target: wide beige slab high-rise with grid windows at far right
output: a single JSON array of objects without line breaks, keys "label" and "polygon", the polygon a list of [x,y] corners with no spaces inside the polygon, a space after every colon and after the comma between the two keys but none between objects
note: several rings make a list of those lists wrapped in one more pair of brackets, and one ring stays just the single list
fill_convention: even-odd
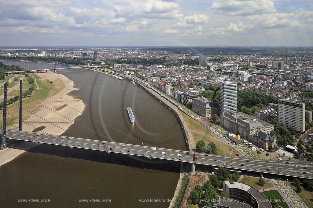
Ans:
[{"label": "wide beige slab high-rise with grid windows at far right", "polygon": [[295,131],[305,131],[305,103],[279,100],[278,101],[278,123],[285,127],[294,128]]}]

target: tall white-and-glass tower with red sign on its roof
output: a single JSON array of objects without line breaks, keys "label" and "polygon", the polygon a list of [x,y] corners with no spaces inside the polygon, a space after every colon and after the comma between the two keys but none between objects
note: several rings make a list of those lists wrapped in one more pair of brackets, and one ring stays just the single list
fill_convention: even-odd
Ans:
[{"label": "tall white-and-glass tower with red sign on its roof", "polygon": [[237,82],[224,80],[220,83],[219,105],[220,114],[237,112]]}]

